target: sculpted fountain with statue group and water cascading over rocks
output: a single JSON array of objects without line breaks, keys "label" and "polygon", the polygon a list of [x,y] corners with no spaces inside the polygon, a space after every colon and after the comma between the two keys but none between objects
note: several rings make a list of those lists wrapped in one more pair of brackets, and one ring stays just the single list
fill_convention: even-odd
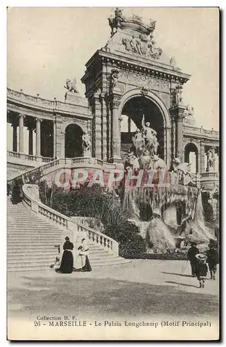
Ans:
[{"label": "sculpted fountain with statue group and water cascading over rocks", "polygon": [[[173,171],[167,171],[166,163],[157,155],[159,142],[156,135],[156,131],[150,128],[149,123],[145,123],[143,117],[142,128],[136,130],[132,138],[133,146],[125,161],[129,178],[131,171],[134,173],[142,169],[145,172],[142,184],[137,186],[132,182],[124,191],[123,205],[130,211],[130,220],[139,226],[141,236],[147,243],[158,248],[175,247],[175,239],[179,236],[177,232],[180,237],[189,236],[189,239],[201,242],[209,240],[213,235],[205,226],[202,196],[189,172],[189,163],[181,163],[180,158],[175,158],[172,162]],[[164,181],[160,180],[161,170],[165,173],[162,176]],[[149,171],[153,172],[153,184],[147,185],[147,182],[150,183]],[[134,179],[134,174],[132,177]],[[173,212],[172,215],[166,212],[168,208]],[[168,226],[164,219],[168,221]]]}]

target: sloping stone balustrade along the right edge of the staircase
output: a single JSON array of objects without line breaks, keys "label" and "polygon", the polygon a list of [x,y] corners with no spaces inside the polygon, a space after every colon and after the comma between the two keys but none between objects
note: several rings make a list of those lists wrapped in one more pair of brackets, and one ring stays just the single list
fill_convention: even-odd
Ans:
[{"label": "sloping stone balustrade along the right edge of the staircase", "polygon": [[98,230],[84,226],[83,224],[74,221],[64,214],[61,214],[60,212],[49,208],[49,206],[44,205],[44,203],[40,201],[40,198],[38,196],[37,185],[25,184],[23,185],[22,189],[24,192],[24,201],[29,206],[29,208],[31,208],[31,210],[33,210],[37,214],[40,214],[40,216],[49,219],[49,221],[54,222],[59,227],[64,227],[72,232],[86,232],[89,240],[98,244],[98,246],[101,246],[104,249],[110,251],[111,253],[119,255],[119,244],[114,239],[104,235]]}]

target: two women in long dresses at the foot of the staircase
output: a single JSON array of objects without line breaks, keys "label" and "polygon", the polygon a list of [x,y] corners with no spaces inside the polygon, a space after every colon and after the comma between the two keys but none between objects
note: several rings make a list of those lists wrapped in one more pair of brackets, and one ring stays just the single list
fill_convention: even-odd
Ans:
[{"label": "two women in long dresses at the foot of the staircase", "polygon": [[[62,260],[60,267],[55,269],[58,273],[72,273],[73,271],[92,271],[92,267],[89,262],[88,251],[89,246],[85,240],[82,239],[80,246],[78,247],[78,256],[74,262],[73,260],[73,243],[70,241],[69,237],[65,237],[65,242],[63,245],[64,253],[62,255]],[[53,267],[53,266],[51,266]]]}]

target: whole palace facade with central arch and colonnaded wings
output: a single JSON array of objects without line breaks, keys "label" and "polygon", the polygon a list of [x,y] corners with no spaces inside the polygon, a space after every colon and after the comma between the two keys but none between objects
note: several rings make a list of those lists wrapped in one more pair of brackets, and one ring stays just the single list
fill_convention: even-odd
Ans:
[{"label": "whole palace facade with central arch and colonnaded wings", "polygon": [[191,76],[157,46],[154,21],[146,24],[116,9],[109,24],[110,40],[89,59],[81,78],[85,97],[78,94],[75,79],[67,80],[64,102],[7,90],[8,178],[55,159],[79,167],[91,162],[121,168],[132,144],[132,125],[141,128],[144,117],[157,133],[158,155],[168,167],[174,158],[189,162],[193,153],[196,182],[217,209],[219,133],[193,125],[194,110],[182,97]]}]

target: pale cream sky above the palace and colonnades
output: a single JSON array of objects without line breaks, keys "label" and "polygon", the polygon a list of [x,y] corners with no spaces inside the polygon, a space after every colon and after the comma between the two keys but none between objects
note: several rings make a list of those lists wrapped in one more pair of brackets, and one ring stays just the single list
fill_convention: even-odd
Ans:
[{"label": "pale cream sky above the palace and colonnades", "polygon": [[[66,78],[80,78],[85,63],[110,36],[107,17],[115,8],[10,8],[8,87],[46,99],[64,100]],[[125,8],[157,21],[157,46],[191,74],[184,103],[196,125],[218,130],[218,10],[216,8]]]}]

